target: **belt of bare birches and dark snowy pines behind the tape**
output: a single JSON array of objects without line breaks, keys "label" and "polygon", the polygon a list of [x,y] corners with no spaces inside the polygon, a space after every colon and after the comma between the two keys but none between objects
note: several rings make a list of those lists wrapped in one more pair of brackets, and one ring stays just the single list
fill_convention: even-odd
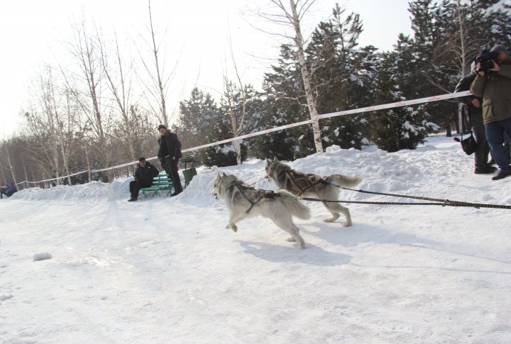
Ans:
[{"label": "belt of bare birches and dark snowy pines behind the tape", "polygon": [[[360,46],[360,16],[334,6],[332,16],[317,25],[302,47],[282,44],[278,62],[264,75],[260,89],[240,78],[224,78],[217,102],[194,89],[179,104],[170,127],[183,148],[233,138],[267,128],[306,121],[311,104],[331,113],[405,99],[449,93],[469,73],[480,47],[511,44],[511,5],[499,0],[410,1],[412,37],[400,35],[394,49],[380,52]],[[389,18],[388,20],[392,20]],[[383,21],[385,23],[385,21]],[[99,34],[77,26],[70,51],[80,74],[62,66],[41,74],[24,114],[25,130],[0,147],[0,178],[6,182],[40,180],[120,165],[158,150],[155,128],[169,123],[165,79],[155,59],[145,60],[154,84],[144,84],[144,96],[129,96],[129,64],[117,49],[106,50]],[[384,25],[384,24],[383,24]],[[151,27],[151,35],[154,38]],[[153,40],[154,42],[154,40]],[[312,102],[307,99],[303,68]],[[458,129],[458,104],[439,101],[372,113],[326,118],[319,122],[323,148],[377,145],[390,152],[414,149],[428,133]],[[235,165],[246,157],[295,160],[316,152],[309,126],[260,135],[243,142],[197,150],[204,165]],[[131,173],[131,167],[97,175],[79,174],[57,182],[111,180]]]}]

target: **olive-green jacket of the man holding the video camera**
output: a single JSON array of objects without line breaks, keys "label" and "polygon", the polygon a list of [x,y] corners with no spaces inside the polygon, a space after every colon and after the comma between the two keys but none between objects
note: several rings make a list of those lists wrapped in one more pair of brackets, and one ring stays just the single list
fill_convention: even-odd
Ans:
[{"label": "olive-green jacket of the man holding the video camera", "polygon": [[511,59],[500,65],[499,72],[485,73],[474,79],[471,92],[483,97],[483,118],[488,124],[511,117]]}]

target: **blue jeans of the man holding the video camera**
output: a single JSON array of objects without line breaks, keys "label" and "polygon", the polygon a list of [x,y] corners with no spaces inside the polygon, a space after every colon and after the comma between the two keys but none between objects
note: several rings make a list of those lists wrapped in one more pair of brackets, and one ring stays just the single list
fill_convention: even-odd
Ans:
[{"label": "blue jeans of the man holding the video camera", "polygon": [[490,122],[485,125],[486,140],[490,145],[493,159],[497,162],[500,170],[510,171],[510,156],[504,148],[505,134],[511,138],[511,117],[503,121]]}]

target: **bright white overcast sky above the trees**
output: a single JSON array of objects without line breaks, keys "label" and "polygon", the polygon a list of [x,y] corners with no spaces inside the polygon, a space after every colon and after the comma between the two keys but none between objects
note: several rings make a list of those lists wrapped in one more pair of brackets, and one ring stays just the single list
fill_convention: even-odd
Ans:
[{"label": "bright white overcast sky above the trees", "polygon": [[[399,33],[411,34],[408,0],[319,0],[307,17],[304,32],[325,20],[338,2],[346,13],[359,13],[364,33],[361,45],[392,50]],[[166,68],[177,62],[170,83],[169,106],[189,96],[197,85],[215,96],[221,91],[229,33],[243,82],[260,87],[263,73],[278,57],[282,41],[267,35],[251,10],[268,0],[152,0],[153,22],[164,40]],[[147,50],[148,2],[145,0],[5,0],[0,14],[0,137],[19,128],[19,113],[28,104],[29,89],[43,64],[57,65],[65,56],[63,43],[72,38],[71,23],[93,18],[105,35],[116,30],[121,45]],[[251,23],[252,25],[249,25]],[[307,26],[309,24],[309,26]],[[166,30],[166,34],[164,31]],[[163,45],[162,45],[163,46]],[[128,48],[126,48],[128,51]],[[369,104],[368,104],[369,105]]]}]

